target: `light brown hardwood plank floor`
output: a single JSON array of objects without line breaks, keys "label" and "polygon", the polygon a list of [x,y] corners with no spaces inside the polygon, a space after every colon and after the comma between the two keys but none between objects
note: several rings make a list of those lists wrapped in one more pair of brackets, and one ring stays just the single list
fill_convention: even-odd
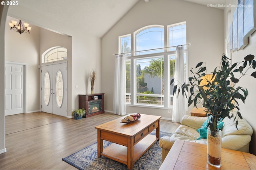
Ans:
[{"label": "light brown hardwood plank floor", "polygon": [[[96,125],[121,117],[103,113],[79,120],[44,112],[6,116],[6,153],[0,169],[76,169],[62,158],[97,142]],[[179,126],[160,120],[160,131]]]}]

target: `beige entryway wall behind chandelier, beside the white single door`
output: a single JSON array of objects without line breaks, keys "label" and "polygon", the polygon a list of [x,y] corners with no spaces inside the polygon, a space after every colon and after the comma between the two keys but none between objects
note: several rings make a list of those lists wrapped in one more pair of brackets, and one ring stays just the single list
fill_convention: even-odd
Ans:
[{"label": "beige entryway wall behind chandelier, beside the white single door", "polygon": [[[7,21],[16,20],[7,17]],[[19,34],[11,31],[8,24],[5,25],[6,51],[5,61],[27,64],[27,112],[39,111],[40,101],[40,64],[39,57],[39,37],[40,28],[32,26],[32,32]]]}]

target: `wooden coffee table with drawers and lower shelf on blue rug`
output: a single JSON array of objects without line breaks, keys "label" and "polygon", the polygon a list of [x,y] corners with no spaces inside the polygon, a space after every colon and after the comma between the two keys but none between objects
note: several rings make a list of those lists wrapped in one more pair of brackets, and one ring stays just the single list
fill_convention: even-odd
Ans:
[{"label": "wooden coffee table with drawers and lower shelf on blue rug", "polygon": [[[141,114],[133,123],[120,123],[126,116],[95,127],[98,129],[98,157],[106,156],[132,169],[140,156],[159,140],[161,117]],[[149,134],[154,129],[156,136]],[[112,144],[103,149],[103,140]]]}]

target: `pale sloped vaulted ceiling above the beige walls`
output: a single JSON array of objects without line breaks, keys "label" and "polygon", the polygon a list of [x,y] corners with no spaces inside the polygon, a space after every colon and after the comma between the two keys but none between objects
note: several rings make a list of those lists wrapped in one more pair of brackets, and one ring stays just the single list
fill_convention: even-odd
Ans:
[{"label": "pale sloped vaulted ceiling above the beige walls", "polygon": [[[18,0],[19,6],[25,6],[40,15],[60,22],[75,25],[77,29],[102,37],[118,22],[139,0]],[[188,2],[223,4],[226,0],[186,0]],[[150,0],[144,0],[144,3]]]}]

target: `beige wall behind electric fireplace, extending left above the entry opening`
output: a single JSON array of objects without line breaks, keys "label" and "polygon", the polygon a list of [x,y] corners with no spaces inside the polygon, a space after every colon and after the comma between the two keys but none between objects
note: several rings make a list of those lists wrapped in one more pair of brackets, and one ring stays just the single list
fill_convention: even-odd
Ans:
[{"label": "beige wall behind electric fireplace, extending left above the entry opening", "polygon": [[8,15],[72,37],[72,61],[68,61],[68,79],[71,79],[68,82],[70,84],[68,92],[71,92],[70,95],[68,94],[70,96],[68,97],[68,116],[71,116],[71,109],[78,108],[78,94],[91,92],[88,75],[93,68],[97,72],[94,91],[101,92],[100,38],[94,37],[82,29],[77,29],[77,27],[69,25],[68,22],[62,23],[22,5],[11,6]]}]

